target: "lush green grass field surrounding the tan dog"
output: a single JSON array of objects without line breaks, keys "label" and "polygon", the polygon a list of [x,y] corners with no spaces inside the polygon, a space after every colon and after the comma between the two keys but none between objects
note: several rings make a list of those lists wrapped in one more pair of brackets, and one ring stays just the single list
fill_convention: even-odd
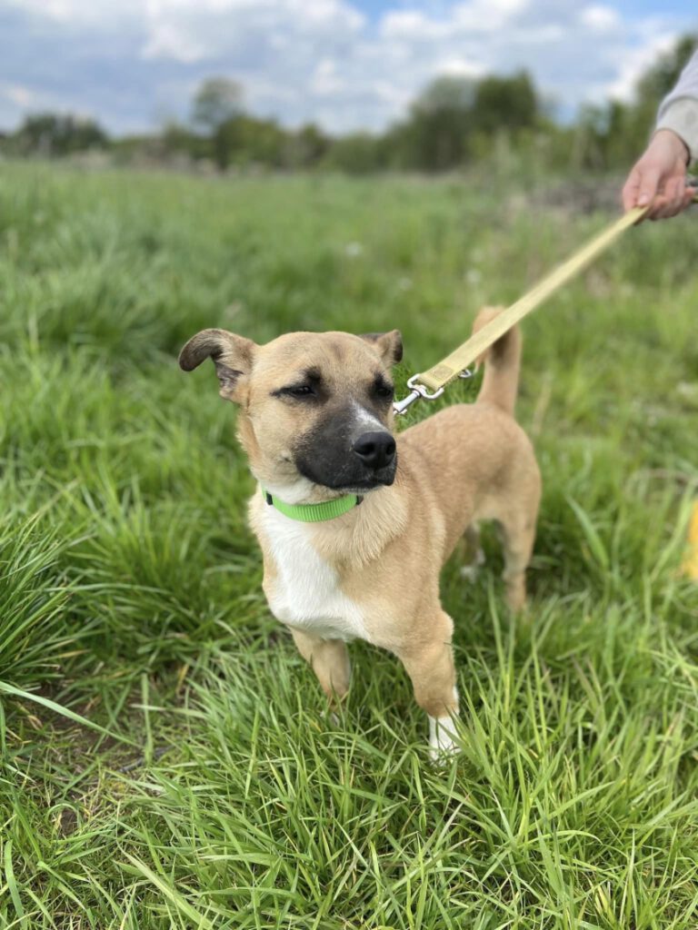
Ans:
[{"label": "lush green grass field surrounding the tan dog", "polygon": [[507,183],[0,166],[0,926],[696,926],[695,219],[524,326],[529,618],[494,533],[477,581],[447,566],[440,770],[387,654],[352,647],[327,716],[263,601],[234,406],[176,364],[205,326],[398,326],[404,385],[609,220]]}]

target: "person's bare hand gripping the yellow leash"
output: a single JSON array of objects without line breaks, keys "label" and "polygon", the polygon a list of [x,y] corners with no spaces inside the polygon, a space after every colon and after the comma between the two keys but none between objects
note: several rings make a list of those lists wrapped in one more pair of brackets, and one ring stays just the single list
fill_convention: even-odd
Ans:
[{"label": "person's bare hand gripping the yellow leash", "polygon": [[686,187],[689,150],[671,129],[659,129],[631,170],[623,188],[625,210],[651,204],[643,219],[675,217],[691,204],[695,188]]}]

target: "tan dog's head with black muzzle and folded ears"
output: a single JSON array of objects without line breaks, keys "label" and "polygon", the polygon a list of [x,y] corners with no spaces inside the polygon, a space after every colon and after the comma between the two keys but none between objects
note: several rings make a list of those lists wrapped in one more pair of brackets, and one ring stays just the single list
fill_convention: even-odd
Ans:
[{"label": "tan dog's head with black muzzle and folded ears", "polygon": [[301,499],[308,483],[325,497],[333,495],[324,489],[364,493],[392,485],[390,367],[401,357],[396,329],[289,333],[262,346],[205,329],[181,350],[180,365],[192,371],[212,359],[221,397],[240,406],[238,434],[252,473],[273,492]]}]

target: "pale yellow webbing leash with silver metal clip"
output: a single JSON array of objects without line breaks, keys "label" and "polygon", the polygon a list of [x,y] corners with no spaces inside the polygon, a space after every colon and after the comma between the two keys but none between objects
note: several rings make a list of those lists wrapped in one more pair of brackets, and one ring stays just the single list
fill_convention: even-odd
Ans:
[{"label": "pale yellow webbing leash with silver metal clip", "polygon": [[636,206],[628,210],[621,219],[616,219],[603,232],[598,233],[585,246],[578,249],[570,259],[547,274],[516,303],[498,313],[493,320],[490,320],[490,323],[463,342],[463,345],[459,346],[455,352],[451,352],[427,371],[412,375],[407,382],[409,394],[393,405],[396,414],[405,413],[408,407],[420,398],[425,401],[436,400],[450,382],[457,378],[472,378],[475,370],[471,370],[469,366],[473,365],[483,352],[489,349],[497,339],[500,339],[507,330],[539,307],[544,300],[555,294],[560,287],[566,285],[575,274],[579,274],[591,264],[626,229],[642,219],[649,209],[650,206]]}]

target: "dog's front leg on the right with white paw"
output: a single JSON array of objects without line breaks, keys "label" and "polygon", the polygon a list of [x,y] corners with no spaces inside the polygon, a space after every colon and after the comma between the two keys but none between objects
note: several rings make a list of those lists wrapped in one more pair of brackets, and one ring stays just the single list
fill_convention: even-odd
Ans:
[{"label": "dog's front leg on the right with white paw", "polygon": [[453,622],[439,611],[432,622],[424,623],[430,632],[420,640],[396,650],[414,688],[414,697],[429,717],[429,748],[432,758],[457,750],[454,717],[458,715],[458,690],[450,639]]}]

